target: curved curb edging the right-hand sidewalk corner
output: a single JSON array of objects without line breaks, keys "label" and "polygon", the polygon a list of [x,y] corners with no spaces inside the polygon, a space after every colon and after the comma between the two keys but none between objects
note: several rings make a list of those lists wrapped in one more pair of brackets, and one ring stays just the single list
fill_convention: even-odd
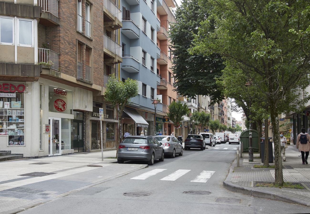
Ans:
[{"label": "curved curb edging the right-hand sidewalk corner", "polygon": [[230,180],[233,176],[232,171],[234,170],[234,165],[237,165],[237,157],[236,157],[235,161],[232,163],[232,166],[229,169],[228,176],[226,177],[225,181],[223,182],[223,186],[225,189],[228,189],[232,192],[238,192],[238,193],[242,193],[244,195],[250,195],[250,196],[254,196],[254,197],[258,197],[258,198],[284,201],[287,203],[300,204],[300,205],[310,207],[310,202],[305,201],[303,199],[299,199],[299,198],[296,198],[293,196],[288,196],[285,194],[276,193],[273,191],[255,189],[255,188],[251,188],[251,187],[247,187],[247,186],[241,186],[241,185],[232,183]]}]

